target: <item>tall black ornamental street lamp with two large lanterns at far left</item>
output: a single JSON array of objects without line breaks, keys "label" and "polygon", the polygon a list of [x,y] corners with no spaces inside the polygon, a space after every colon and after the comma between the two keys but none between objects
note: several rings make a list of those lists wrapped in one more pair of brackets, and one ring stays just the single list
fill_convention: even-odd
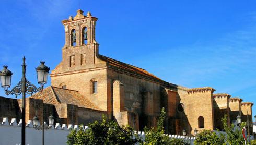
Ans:
[{"label": "tall black ornamental street lamp with two large lanterns at far left", "polygon": [[44,65],[44,62],[41,62],[41,64],[36,68],[37,70],[37,78],[38,78],[38,83],[40,84],[40,87],[37,88],[34,86],[34,84],[31,84],[29,81],[26,79],[26,63],[25,63],[25,57],[23,57],[23,64],[22,64],[22,78],[21,81],[18,83],[17,86],[15,86],[13,89],[10,91],[8,88],[10,88],[10,82],[11,82],[11,73],[10,70],[7,69],[8,66],[4,66],[4,69],[0,71],[0,81],[1,81],[1,86],[5,90],[5,94],[14,94],[17,98],[18,95],[22,93],[22,124],[21,124],[21,145],[25,145],[25,104],[26,104],[26,94],[33,94],[38,91],[43,90],[44,84],[47,83],[47,77],[49,74],[50,68]]}]

